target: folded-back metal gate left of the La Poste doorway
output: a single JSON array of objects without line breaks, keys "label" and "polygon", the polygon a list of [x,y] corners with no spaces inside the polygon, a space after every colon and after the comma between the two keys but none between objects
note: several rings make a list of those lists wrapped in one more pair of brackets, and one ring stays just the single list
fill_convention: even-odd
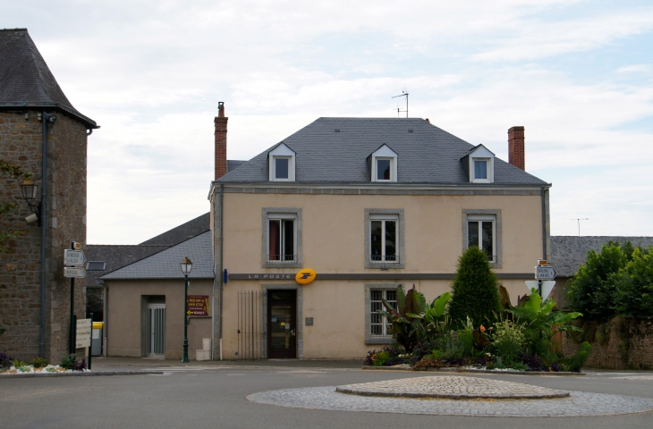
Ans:
[{"label": "folded-back metal gate left of the La Poste doorway", "polygon": [[260,290],[238,292],[238,358],[260,360],[261,353]]}]

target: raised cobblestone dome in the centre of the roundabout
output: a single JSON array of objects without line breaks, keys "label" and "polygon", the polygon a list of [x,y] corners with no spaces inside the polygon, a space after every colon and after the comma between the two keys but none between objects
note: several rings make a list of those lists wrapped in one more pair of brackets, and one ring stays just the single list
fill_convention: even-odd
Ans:
[{"label": "raised cobblestone dome in the centre of the roundabout", "polygon": [[555,391],[524,383],[462,376],[417,377],[376,383],[347,384],[336,387],[335,391],[362,396],[448,398],[453,400],[541,400],[569,396],[568,391]]}]

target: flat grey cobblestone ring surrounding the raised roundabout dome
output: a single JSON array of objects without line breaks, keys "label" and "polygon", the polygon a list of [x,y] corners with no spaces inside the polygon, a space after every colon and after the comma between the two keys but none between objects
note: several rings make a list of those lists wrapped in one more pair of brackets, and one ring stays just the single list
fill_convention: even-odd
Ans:
[{"label": "flat grey cobblestone ring surrounding the raised roundabout dome", "polygon": [[442,416],[615,416],[653,411],[653,400],[584,391],[570,391],[566,398],[548,400],[453,400],[358,396],[335,389],[326,386],[262,391],[247,399],[290,408]]}]

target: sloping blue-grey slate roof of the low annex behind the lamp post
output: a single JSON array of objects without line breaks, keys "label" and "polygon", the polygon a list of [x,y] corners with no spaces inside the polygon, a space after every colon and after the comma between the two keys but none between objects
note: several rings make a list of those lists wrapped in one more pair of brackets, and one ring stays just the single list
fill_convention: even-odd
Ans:
[{"label": "sloping blue-grey slate roof of the low annex behind the lamp post", "polygon": [[184,257],[190,257],[193,263],[190,279],[213,279],[211,232],[204,232],[155,255],[123,266],[123,268],[101,276],[100,280],[182,279],[183,275],[179,264]]}]

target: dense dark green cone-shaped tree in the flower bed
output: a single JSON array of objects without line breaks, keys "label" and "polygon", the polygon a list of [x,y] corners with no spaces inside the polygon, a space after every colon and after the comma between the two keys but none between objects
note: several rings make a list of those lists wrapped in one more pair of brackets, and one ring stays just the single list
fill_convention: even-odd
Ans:
[{"label": "dense dark green cone-shaped tree in the flower bed", "polygon": [[488,255],[475,246],[468,248],[458,259],[452,293],[449,315],[456,324],[464,323],[467,316],[474,326],[488,324],[503,310]]}]

